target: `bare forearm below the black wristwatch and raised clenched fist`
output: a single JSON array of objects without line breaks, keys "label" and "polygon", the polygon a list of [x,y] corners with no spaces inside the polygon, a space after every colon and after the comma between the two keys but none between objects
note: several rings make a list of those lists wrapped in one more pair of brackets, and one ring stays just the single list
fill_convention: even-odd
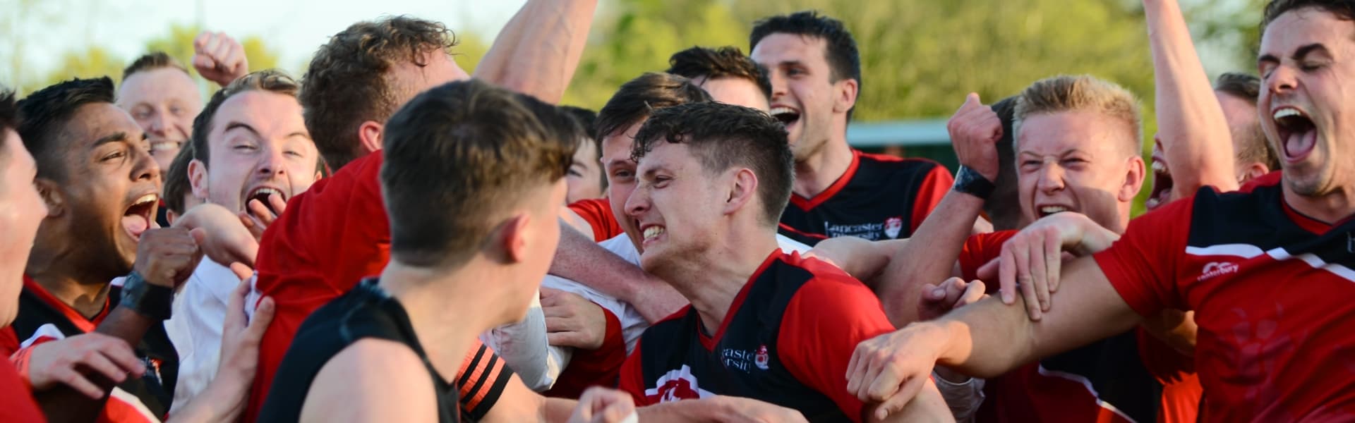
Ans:
[{"label": "bare forearm below the black wristwatch and raised clenched fist", "polygon": [[888,283],[878,294],[896,327],[917,320],[923,285],[940,283],[951,275],[982,206],[978,197],[947,193],[913,233],[912,239],[919,243],[908,243],[890,260],[883,274]]}]

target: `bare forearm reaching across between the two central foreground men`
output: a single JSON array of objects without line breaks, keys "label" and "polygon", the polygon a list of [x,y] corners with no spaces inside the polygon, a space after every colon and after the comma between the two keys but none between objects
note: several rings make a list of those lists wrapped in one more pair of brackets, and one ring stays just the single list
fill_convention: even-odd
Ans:
[{"label": "bare forearm reaching across between the two central foreground men", "polygon": [[560,247],[556,248],[556,258],[550,262],[551,275],[576,281],[626,301],[650,323],[663,320],[687,305],[687,298],[667,282],[599,247],[592,239],[568,225],[560,232]]}]

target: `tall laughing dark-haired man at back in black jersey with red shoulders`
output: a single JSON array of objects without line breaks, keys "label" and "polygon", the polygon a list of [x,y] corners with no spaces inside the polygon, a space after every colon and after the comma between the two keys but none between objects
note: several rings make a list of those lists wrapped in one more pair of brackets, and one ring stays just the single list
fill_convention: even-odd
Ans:
[{"label": "tall laughing dark-haired man at back in black jersey with red shoulders", "polygon": [[839,236],[905,239],[917,230],[954,178],[935,161],[847,145],[862,79],[846,26],[813,11],[771,16],[753,26],[749,45],[771,79],[771,115],[786,123],[795,152],[782,233],[813,245]]}]

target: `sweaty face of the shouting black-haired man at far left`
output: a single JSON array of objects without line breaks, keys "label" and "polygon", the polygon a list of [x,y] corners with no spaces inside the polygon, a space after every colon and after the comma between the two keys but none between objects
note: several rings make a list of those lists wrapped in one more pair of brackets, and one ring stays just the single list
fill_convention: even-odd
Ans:
[{"label": "sweaty face of the shouting black-haired man at far left", "polygon": [[[111,277],[131,271],[137,241],[153,226],[160,199],[160,167],[149,141],[126,111],[108,103],[81,106],[60,137],[65,180],[54,183],[54,191],[69,233],[43,237],[80,240],[83,264]],[[46,228],[45,221],[39,233]]]}]

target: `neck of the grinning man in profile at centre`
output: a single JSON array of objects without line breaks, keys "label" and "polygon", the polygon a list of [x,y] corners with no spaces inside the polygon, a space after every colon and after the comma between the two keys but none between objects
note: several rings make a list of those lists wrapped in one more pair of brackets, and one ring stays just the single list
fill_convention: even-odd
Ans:
[{"label": "neck of the grinning man in profile at centre", "polygon": [[675,263],[673,268],[659,275],[691,301],[706,334],[714,335],[720,329],[734,297],[767,260],[767,255],[780,248],[774,229],[755,228],[730,230],[721,237],[721,244],[707,248],[694,260]]}]

